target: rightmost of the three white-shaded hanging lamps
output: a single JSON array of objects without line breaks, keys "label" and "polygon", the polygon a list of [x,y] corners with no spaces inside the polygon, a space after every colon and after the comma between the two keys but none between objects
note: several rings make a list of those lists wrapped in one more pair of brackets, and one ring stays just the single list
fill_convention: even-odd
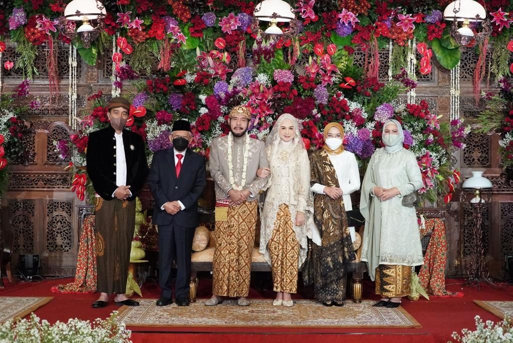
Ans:
[{"label": "rightmost of the three white-shaded hanging lamps", "polygon": [[[490,21],[486,18],[486,10],[481,4],[473,0],[456,0],[447,5],[444,18],[452,21],[450,35],[464,49],[473,40],[482,43],[491,34]],[[459,25],[461,23],[461,27]],[[470,25],[482,26],[480,32],[475,33]]]}]

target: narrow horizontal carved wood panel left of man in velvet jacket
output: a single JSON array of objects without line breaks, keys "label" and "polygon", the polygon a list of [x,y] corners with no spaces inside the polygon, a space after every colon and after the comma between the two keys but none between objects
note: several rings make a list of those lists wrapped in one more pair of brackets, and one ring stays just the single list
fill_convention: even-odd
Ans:
[{"label": "narrow horizontal carved wood panel left of man in velvet jacket", "polygon": [[66,172],[13,172],[9,179],[9,190],[67,189],[70,187],[71,174]]}]

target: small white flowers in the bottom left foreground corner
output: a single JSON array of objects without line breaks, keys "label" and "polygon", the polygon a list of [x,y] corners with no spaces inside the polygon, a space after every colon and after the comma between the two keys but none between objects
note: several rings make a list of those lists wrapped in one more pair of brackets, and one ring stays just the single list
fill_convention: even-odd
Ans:
[{"label": "small white flowers in the bottom left foreground corner", "polygon": [[116,317],[114,311],[105,320],[97,318],[90,322],[74,318],[51,325],[31,313],[30,319],[10,319],[0,325],[0,342],[130,342],[131,331]]}]

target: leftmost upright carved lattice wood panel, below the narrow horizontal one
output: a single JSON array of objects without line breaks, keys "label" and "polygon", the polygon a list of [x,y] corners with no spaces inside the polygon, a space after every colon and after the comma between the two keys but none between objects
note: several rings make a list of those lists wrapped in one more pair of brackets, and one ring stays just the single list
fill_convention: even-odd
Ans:
[{"label": "leftmost upright carved lattice wood panel, below the narrow horizontal one", "polygon": [[14,231],[13,251],[15,253],[32,253],[34,251],[35,201],[11,200],[9,206]]}]

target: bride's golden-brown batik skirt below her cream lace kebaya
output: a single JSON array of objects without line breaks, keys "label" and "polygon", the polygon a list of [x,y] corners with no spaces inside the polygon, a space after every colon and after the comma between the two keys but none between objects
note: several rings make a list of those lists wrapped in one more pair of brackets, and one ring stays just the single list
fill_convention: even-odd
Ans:
[{"label": "bride's golden-brown batik skirt below her cream lace kebaya", "polygon": [[286,204],[278,207],[272,237],[267,244],[271,256],[274,292],[298,291],[299,243],[292,227],[292,218]]}]

